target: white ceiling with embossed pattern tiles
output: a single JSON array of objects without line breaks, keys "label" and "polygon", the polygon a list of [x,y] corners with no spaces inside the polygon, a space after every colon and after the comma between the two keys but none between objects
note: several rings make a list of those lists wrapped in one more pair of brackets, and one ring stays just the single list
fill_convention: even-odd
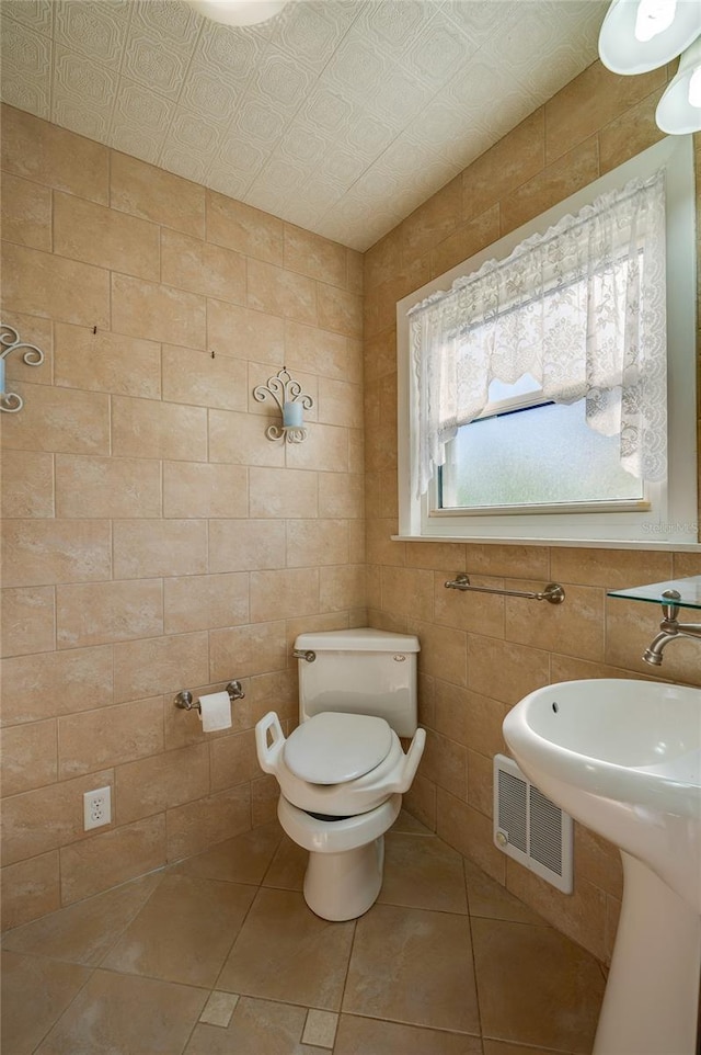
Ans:
[{"label": "white ceiling with embossed pattern tiles", "polygon": [[2,0],[2,98],[365,250],[587,67],[608,0]]}]

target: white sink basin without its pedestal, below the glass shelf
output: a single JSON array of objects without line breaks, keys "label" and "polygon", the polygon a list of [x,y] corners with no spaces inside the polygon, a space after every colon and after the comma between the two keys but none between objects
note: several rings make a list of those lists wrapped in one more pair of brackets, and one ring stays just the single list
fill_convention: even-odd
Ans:
[{"label": "white sink basin without its pedestal, below the glass shelf", "polygon": [[701,690],[565,681],[521,700],[504,737],[543,794],[701,912]]}]

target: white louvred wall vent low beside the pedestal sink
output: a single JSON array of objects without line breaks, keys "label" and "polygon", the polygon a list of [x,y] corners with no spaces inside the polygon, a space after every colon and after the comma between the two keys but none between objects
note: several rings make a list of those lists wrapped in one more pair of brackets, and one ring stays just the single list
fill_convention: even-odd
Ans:
[{"label": "white louvred wall vent low beside the pedestal sink", "polygon": [[506,755],[494,757],[494,844],[564,894],[573,886],[572,817]]}]

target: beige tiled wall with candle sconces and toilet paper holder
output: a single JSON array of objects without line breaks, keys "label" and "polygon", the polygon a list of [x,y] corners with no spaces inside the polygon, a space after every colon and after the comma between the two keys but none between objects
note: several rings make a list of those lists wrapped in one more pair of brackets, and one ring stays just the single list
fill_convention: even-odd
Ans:
[{"label": "beige tiled wall with candle sconces and toilet paper holder", "polygon": [[[360,254],[10,107],[1,139],[2,318],[46,353],[1,422],[7,928],[274,816],[253,725],[297,633],[366,613]],[[296,447],[252,396],[283,364]],[[174,708],[231,678],[231,731]]]}]

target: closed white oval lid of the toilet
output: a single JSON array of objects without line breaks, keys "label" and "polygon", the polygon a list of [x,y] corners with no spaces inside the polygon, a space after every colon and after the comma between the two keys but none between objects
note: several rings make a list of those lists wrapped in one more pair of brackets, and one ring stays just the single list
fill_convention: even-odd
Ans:
[{"label": "closed white oval lid of the toilet", "polygon": [[384,718],[323,711],[290,733],[284,758],[290,772],[309,784],[341,784],[369,773],[391,746]]}]

